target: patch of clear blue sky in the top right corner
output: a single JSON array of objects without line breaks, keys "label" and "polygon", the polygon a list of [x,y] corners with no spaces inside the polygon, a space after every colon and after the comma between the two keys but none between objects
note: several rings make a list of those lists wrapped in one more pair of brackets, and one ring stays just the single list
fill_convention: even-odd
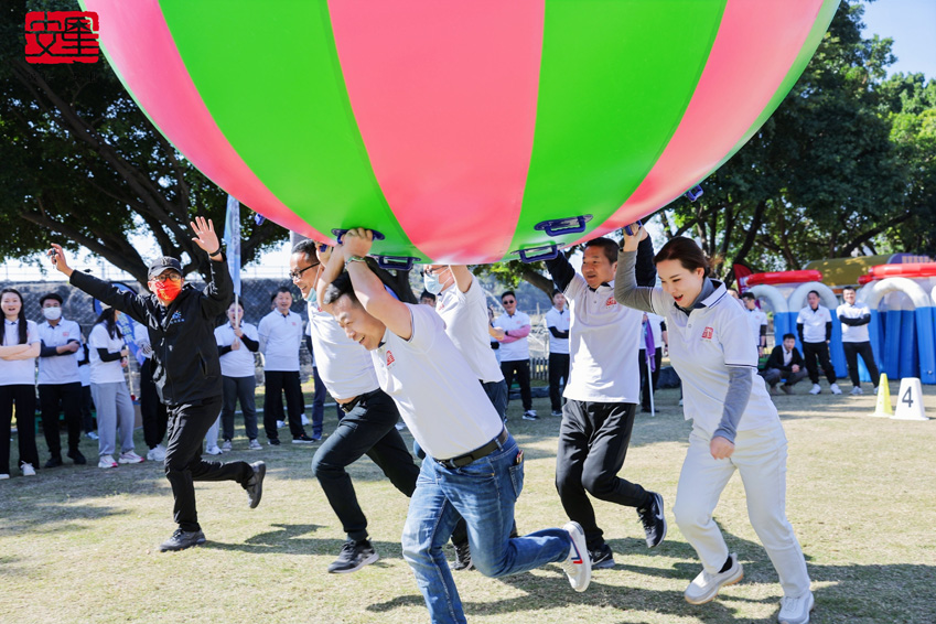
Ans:
[{"label": "patch of clear blue sky in the top right corner", "polygon": [[865,3],[864,36],[894,40],[897,62],[889,74],[923,72],[936,78],[936,0],[878,0]]}]

